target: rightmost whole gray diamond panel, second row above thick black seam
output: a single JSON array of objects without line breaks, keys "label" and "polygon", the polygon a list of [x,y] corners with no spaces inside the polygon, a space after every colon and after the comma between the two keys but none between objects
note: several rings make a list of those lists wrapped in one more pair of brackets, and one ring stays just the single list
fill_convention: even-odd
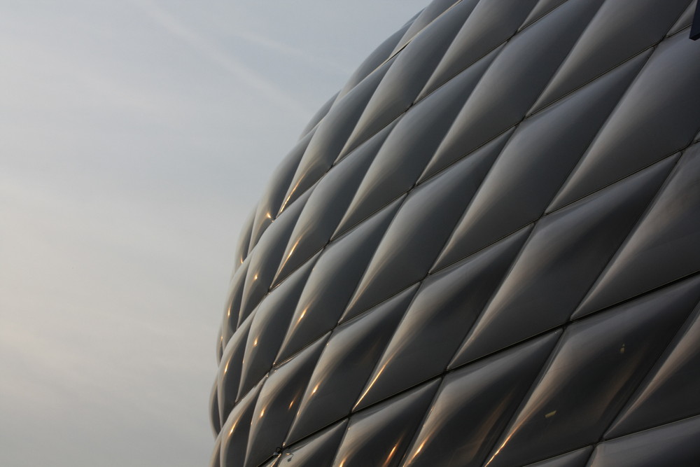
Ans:
[{"label": "rightmost whole gray diamond panel, second row above thick black seam", "polygon": [[[631,60],[525,120],[486,176],[437,264],[464,258],[540,218],[644,61],[645,57]],[[510,188],[503,190],[504,186]]]}]

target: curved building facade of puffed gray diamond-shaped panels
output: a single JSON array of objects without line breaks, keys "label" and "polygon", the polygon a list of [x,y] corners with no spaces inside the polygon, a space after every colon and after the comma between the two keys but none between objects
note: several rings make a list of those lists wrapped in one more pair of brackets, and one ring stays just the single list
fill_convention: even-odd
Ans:
[{"label": "curved building facade of puffed gray diamond-shaped panels", "polygon": [[689,0],[435,0],[239,239],[212,466],[700,459]]}]

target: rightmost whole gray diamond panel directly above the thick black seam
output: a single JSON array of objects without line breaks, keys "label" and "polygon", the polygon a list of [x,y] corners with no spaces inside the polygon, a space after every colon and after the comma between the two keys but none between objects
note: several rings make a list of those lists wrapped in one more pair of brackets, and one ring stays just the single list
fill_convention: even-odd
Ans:
[{"label": "rightmost whole gray diamond panel directly above the thick black seam", "polygon": [[565,323],[656,194],[672,162],[660,162],[542,218],[455,364]]}]

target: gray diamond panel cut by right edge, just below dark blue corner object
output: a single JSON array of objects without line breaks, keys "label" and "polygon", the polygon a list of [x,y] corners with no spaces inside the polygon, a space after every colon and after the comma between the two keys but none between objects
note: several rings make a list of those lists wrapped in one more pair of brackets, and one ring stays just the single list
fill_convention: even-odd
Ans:
[{"label": "gray diamond panel cut by right edge, just below dark blue corner object", "polygon": [[700,48],[664,41],[605,123],[549,211],[684,148],[700,127]]}]

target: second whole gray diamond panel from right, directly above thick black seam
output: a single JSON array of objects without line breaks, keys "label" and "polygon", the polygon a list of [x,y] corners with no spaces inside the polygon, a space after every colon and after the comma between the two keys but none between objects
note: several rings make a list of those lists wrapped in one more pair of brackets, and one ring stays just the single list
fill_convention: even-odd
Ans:
[{"label": "second whole gray diamond panel from right, directly above thick black seam", "polygon": [[528,234],[518,232],[423,281],[357,407],[444,372]]}]

